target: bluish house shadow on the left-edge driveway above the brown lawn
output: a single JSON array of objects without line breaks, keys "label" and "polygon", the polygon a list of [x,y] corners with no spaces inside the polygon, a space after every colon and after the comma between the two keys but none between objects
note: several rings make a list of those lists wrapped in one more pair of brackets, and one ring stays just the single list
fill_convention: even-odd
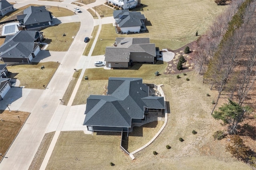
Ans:
[{"label": "bluish house shadow on the left-edge driveway above the brown lawn", "polygon": [[4,96],[4,99],[0,101],[0,114],[4,112],[4,110],[12,110],[12,104],[22,97],[22,89],[20,87],[12,87]]}]

